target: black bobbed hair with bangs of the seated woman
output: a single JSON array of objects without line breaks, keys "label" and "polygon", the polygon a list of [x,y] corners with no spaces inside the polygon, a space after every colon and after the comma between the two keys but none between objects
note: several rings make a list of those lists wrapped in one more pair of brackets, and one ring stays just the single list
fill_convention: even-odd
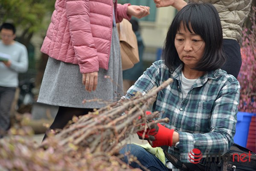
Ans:
[{"label": "black bobbed hair with bangs of the seated woman", "polygon": [[[174,70],[183,62],[175,48],[175,35],[181,26],[200,35],[205,42],[203,57],[194,70],[210,71],[220,68],[226,61],[222,51],[222,28],[217,10],[209,3],[188,3],[174,17],[167,32],[163,47],[163,60]],[[192,30],[191,30],[192,29]]]}]

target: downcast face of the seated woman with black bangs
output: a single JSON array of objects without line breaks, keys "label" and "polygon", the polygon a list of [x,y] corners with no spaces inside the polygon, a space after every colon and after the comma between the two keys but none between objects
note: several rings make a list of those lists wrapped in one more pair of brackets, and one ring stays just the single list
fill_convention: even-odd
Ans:
[{"label": "downcast face of the seated woman with black bangs", "polygon": [[200,35],[184,29],[183,24],[175,35],[175,48],[184,67],[194,68],[204,54],[205,42]]}]

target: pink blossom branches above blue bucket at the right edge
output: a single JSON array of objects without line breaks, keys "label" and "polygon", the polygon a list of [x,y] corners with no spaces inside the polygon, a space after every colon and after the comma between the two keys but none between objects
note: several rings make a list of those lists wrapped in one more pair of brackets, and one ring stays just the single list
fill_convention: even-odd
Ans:
[{"label": "pink blossom branches above blue bucket at the right edge", "polygon": [[239,111],[256,113],[256,8],[253,8],[252,26],[242,35],[242,66],[238,81],[241,86]]}]

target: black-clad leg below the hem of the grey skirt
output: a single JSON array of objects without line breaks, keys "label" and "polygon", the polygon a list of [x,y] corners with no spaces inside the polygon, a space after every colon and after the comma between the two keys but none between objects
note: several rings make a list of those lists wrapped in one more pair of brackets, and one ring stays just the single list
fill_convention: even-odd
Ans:
[{"label": "black-clad leg below the hem of the grey skirt", "polygon": [[[55,116],[55,119],[52,122],[52,125],[49,127],[49,130],[63,129],[67,125],[67,123],[73,118],[73,116],[81,116],[89,112],[93,112],[93,109],[60,106]],[[49,130],[47,130],[47,132]],[[47,138],[47,132],[44,135],[43,141]]]}]

